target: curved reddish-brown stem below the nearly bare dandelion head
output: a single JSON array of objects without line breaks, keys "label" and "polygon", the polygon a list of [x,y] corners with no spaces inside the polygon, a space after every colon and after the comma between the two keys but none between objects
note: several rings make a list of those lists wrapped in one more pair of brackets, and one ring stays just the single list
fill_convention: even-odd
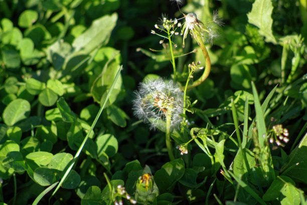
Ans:
[{"label": "curved reddish-brown stem below the nearly bare dandelion head", "polygon": [[203,81],[205,81],[205,79],[208,77],[209,73],[210,73],[210,69],[211,69],[211,60],[208,54],[208,51],[206,49],[206,45],[204,44],[202,38],[201,38],[201,34],[199,32],[195,32],[195,39],[198,42],[198,45],[201,47],[205,60],[206,60],[206,67],[204,69],[204,72],[202,74],[202,76],[200,78],[198,78],[197,80],[195,80],[193,82],[193,84],[188,85],[188,89],[192,89],[193,87],[196,87],[198,85],[200,85]]}]

